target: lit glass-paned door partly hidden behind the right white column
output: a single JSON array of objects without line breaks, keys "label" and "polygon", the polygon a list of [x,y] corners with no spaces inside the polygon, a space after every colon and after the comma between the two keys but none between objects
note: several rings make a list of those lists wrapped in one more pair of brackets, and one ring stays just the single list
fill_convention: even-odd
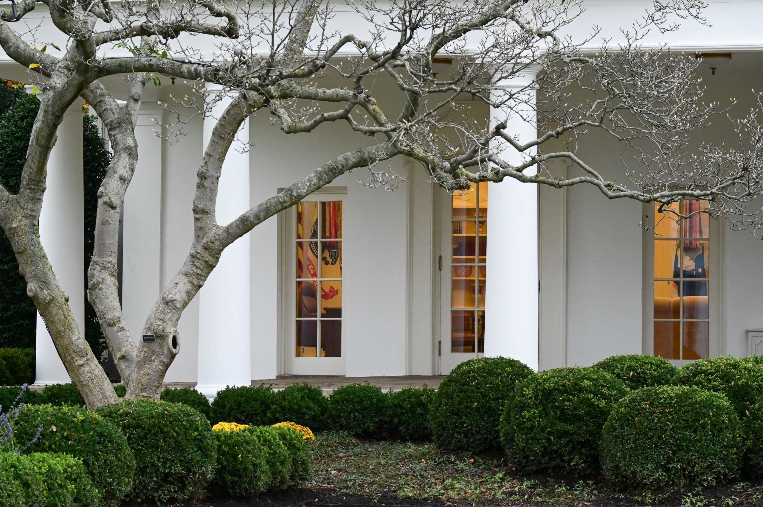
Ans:
[{"label": "lit glass-paned door partly hidden behind the right white column", "polygon": [[485,352],[488,184],[441,199],[439,374]]}]

